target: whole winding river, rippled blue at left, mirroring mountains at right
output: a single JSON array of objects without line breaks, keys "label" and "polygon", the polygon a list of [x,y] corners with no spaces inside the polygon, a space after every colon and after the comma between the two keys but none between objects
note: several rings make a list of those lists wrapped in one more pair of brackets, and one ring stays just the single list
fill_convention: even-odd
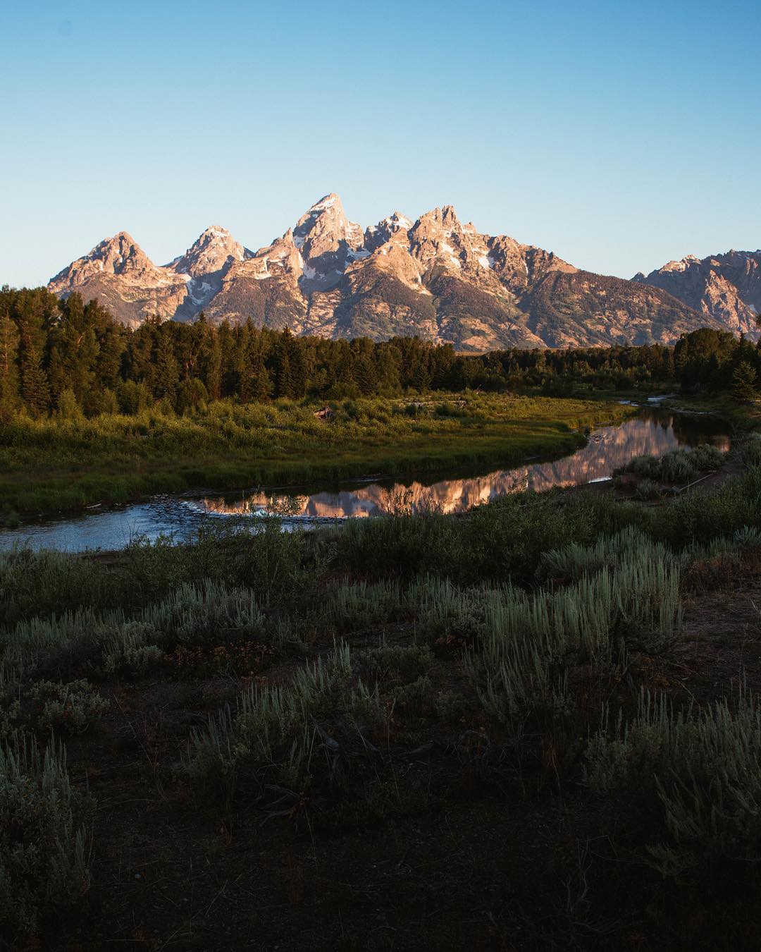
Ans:
[{"label": "whole winding river, rippled blue at left, mirroring mountains at right", "polygon": [[85,549],[116,549],[135,535],[156,539],[171,536],[189,539],[210,518],[248,516],[282,506],[291,508],[283,524],[296,528],[322,520],[372,516],[397,509],[420,511],[435,507],[443,512],[461,512],[487,503],[506,493],[532,487],[576,486],[610,477],[642,453],[662,455],[676,446],[712,443],[728,449],[730,439],[712,418],[691,418],[645,409],[619,426],[595,430],[586,446],[553,463],[529,463],[464,479],[439,479],[430,483],[376,483],[319,489],[293,497],[254,492],[238,496],[189,500],[178,496],[155,496],[146,503],[114,506],[103,511],[67,516],[16,529],[0,531],[0,549],[13,545],[57,548],[80,552]]}]

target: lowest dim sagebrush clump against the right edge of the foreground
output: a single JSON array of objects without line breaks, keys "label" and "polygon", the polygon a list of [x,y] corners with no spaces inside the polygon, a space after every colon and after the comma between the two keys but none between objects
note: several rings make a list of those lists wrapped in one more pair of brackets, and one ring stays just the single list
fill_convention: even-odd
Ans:
[{"label": "lowest dim sagebrush clump against the right edge of the foreground", "polygon": [[734,710],[721,700],[696,713],[643,694],[631,724],[619,718],[610,730],[604,716],[586,780],[601,792],[657,797],[660,840],[648,853],[664,875],[761,856],[761,711],[746,691]]}]

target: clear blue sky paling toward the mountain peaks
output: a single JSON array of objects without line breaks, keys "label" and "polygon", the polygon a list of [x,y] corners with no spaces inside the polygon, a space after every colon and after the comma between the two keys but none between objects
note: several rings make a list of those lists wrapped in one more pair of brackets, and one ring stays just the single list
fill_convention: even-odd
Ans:
[{"label": "clear blue sky paling toward the mountain peaks", "polygon": [[631,277],[761,246],[761,3],[0,0],[0,284],[323,194]]}]

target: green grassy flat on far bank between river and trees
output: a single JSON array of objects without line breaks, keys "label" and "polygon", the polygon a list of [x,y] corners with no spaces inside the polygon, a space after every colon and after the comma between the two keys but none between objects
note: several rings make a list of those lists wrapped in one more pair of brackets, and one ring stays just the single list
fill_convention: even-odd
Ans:
[{"label": "green grassy flat on far bank between river and trees", "polygon": [[331,405],[213,404],[194,416],[31,420],[0,426],[0,518],[213,486],[299,485],[517,464],[583,446],[586,428],[636,412],[612,400],[432,394]]}]

